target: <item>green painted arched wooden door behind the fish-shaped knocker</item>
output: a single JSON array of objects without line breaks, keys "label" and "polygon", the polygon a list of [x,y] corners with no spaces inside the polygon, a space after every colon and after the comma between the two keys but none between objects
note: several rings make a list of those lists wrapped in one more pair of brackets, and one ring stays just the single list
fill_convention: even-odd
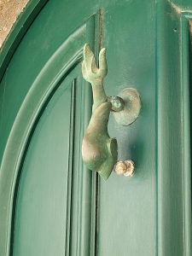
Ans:
[{"label": "green painted arched wooden door behind the fish-shaped knocker", "polygon": [[[44,2],[31,0],[1,52],[0,255],[190,256],[192,2]],[[141,96],[134,123],[108,121],[132,177],[84,166],[84,44],[97,61],[107,48],[107,96]]]}]

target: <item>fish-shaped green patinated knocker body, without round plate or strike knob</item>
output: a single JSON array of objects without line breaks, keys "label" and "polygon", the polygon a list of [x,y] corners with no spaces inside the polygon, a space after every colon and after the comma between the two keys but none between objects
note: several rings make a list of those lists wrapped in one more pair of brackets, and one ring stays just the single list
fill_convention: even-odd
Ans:
[{"label": "fish-shaped green patinated knocker body, without round plate or strike knob", "polygon": [[93,90],[93,113],[90,124],[84,134],[82,156],[84,164],[91,170],[99,172],[105,180],[113,171],[117,161],[117,141],[108,136],[108,118],[112,103],[108,102],[102,80],[108,73],[106,49],[99,54],[99,68],[90,45],[84,45],[84,61],[82,73],[86,81],[90,82]]}]

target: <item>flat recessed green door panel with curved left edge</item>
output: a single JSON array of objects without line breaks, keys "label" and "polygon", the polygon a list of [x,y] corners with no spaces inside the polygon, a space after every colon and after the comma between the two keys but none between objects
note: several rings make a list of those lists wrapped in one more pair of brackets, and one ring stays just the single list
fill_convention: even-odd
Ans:
[{"label": "flat recessed green door panel with curved left edge", "polygon": [[71,87],[62,83],[55,92],[27,150],[16,203],[14,255],[64,255]]}]

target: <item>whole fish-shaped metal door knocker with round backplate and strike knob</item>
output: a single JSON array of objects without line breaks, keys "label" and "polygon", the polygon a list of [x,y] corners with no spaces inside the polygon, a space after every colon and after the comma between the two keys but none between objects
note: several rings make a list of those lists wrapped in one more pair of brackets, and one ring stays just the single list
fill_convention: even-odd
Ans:
[{"label": "whole fish-shaped metal door knocker with round backplate and strike knob", "polygon": [[141,108],[137,90],[128,88],[121,91],[119,96],[106,96],[102,85],[102,80],[108,73],[105,48],[100,51],[98,68],[90,45],[84,45],[82,73],[84,79],[92,85],[93,91],[92,116],[82,143],[84,164],[91,171],[98,172],[105,180],[113,171],[113,167],[116,173],[131,176],[134,172],[133,162],[117,162],[117,141],[108,136],[108,119],[110,111],[113,111],[115,119],[121,125],[130,125],[137,119]]}]

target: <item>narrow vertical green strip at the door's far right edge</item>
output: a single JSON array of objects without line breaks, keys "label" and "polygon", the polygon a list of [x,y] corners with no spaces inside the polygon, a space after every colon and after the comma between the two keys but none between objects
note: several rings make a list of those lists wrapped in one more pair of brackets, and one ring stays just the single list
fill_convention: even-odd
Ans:
[{"label": "narrow vertical green strip at the door's far right edge", "polygon": [[183,84],[183,255],[191,255],[191,21],[182,15],[182,84]]}]

